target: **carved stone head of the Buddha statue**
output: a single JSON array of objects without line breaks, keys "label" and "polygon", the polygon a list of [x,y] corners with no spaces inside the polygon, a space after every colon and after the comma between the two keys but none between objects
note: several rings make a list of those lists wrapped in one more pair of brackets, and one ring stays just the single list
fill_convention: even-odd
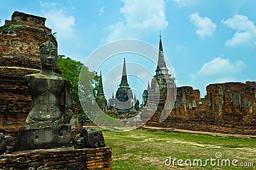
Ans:
[{"label": "carved stone head of the Buddha statue", "polygon": [[57,65],[57,48],[51,41],[40,45],[40,62],[44,69],[53,69]]}]

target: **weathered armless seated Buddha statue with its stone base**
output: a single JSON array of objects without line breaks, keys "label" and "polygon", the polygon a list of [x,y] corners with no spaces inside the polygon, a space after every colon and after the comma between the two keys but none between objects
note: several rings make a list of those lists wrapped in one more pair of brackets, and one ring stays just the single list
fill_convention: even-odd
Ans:
[{"label": "weathered armless seated Buddha statue with its stone base", "polygon": [[57,148],[70,143],[72,89],[68,80],[56,76],[57,47],[40,45],[41,71],[24,76],[32,98],[26,125],[18,132],[17,150]]}]

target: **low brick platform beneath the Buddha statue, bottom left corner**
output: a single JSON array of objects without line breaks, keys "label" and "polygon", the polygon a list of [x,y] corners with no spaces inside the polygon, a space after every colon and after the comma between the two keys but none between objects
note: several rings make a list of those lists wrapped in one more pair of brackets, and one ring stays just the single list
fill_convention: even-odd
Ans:
[{"label": "low brick platform beneath the Buddha statue, bottom left corner", "polygon": [[56,148],[0,155],[0,169],[111,169],[111,148]]}]

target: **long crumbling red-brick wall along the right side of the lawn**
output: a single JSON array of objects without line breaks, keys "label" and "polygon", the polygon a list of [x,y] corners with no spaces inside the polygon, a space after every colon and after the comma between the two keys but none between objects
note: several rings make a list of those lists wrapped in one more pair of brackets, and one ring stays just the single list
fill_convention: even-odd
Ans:
[{"label": "long crumbling red-brick wall along the right side of the lawn", "polygon": [[146,125],[256,135],[255,87],[255,81],[211,84],[204,99],[199,90],[178,87],[168,118],[160,123],[158,112]]}]

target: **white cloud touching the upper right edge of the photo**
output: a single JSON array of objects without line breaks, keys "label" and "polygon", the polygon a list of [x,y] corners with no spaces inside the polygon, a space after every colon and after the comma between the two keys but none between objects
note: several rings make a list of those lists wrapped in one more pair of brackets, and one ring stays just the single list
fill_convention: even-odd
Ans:
[{"label": "white cloud touching the upper right edge of the photo", "polygon": [[234,15],[234,17],[221,22],[236,31],[231,39],[227,39],[227,46],[256,45],[256,26],[248,17]]}]

